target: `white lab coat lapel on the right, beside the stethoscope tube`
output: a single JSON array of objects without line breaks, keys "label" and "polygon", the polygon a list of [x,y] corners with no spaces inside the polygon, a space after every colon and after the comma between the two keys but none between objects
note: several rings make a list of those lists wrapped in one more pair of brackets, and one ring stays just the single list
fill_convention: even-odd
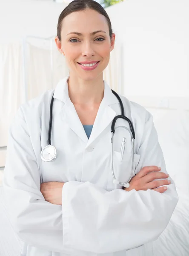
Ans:
[{"label": "white lab coat lapel on the right, beside the stethoscope tube", "polygon": [[[88,147],[93,141],[106,129],[116,116],[116,112],[111,108],[113,104],[117,104],[118,100],[112,93],[109,85],[104,81],[104,97],[97,112],[96,119],[92,128],[92,133],[86,145]],[[110,130],[109,130],[110,132]]]}]

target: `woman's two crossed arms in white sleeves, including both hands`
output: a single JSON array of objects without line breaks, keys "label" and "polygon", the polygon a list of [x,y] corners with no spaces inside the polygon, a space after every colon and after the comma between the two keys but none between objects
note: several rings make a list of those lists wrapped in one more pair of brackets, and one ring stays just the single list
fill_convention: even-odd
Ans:
[{"label": "woman's two crossed arms in white sleeves, including both hands", "polygon": [[[154,137],[157,135],[149,118],[138,151],[143,162],[138,166],[156,164],[165,175],[163,155]],[[154,191],[167,181],[155,183],[161,172],[150,172],[149,168],[140,168],[130,182],[130,191],[107,192],[90,182],[40,184],[33,145],[20,110],[9,130],[4,171],[9,220],[21,240],[43,250],[112,253],[140,246],[158,238],[178,202],[173,181],[165,192],[163,187]]]}]

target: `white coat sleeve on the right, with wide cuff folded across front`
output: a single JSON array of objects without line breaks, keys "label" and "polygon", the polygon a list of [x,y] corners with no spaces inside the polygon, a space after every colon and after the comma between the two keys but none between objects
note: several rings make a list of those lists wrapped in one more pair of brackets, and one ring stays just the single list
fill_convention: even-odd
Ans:
[{"label": "white coat sleeve on the right, with wide cuff folded across front", "polygon": [[[144,166],[155,165],[166,173],[151,114],[137,154],[140,161],[136,172]],[[93,253],[113,253],[155,241],[169,223],[178,202],[173,180],[167,187],[162,194],[151,189],[107,192],[89,182],[65,183],[63,244]]]}]

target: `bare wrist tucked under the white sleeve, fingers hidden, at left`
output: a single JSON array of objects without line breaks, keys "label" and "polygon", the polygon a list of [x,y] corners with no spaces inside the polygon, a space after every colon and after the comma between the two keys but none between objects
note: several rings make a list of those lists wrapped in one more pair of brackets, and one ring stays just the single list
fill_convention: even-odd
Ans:
[{"label": "bare wrist tucked under the white sleeve, fingers hidden, at left", "polygon": [[44,182],[41,183],[40,192],[43,194],[45,201],[51,204],[62,205],[62,188],[64,182]]}]

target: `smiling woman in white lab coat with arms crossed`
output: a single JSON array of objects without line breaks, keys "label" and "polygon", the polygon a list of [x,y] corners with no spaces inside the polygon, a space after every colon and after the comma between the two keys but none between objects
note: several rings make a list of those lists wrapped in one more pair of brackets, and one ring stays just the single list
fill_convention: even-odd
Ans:
[{"label": "smiling woman in white lab coat with arms crossed", "polygon": [[[121,112],[103,81],[115,44],[109,17],[93,0],[74,0],[60,14],[55,42],[69,77],[22,105],[9,132],[4,186],[11,224],[24,241],[21,255],[152,256],[151,242],[169,223],[178,195],[152,115],[123,96],[136,135],[134,174],[129,187],[113,183],[111,125]],[[52,97],[57,157],[45,162]],[[124,183],[132,169],[131,131],[124,119],[115,128],[113,166]]]}]

